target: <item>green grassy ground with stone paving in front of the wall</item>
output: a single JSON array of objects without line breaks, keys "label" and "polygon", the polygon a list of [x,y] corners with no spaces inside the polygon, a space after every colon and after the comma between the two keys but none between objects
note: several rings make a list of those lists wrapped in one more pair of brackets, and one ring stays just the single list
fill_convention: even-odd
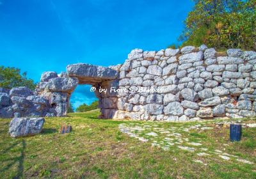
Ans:
[{"label": "green grassy ground with stone paving in front of the wall", "polygon": [[[98,115],[45,118],[42,134],[17,139],[8,134],[10,119],[0,119],[0,178],[256,178],[256,128],[243,128],[242,141],[230,143],[229,129],[216,128],[214,121],[117,121]],[[61,135],[62,123],[70,123],[72,133]]]}]

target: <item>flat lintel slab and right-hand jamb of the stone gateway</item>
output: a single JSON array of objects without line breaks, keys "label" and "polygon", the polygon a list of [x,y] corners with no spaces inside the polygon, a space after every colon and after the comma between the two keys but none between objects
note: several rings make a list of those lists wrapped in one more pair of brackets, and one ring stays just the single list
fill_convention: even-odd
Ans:
[{"label": "flat lintel slab and right-hand jamb of the stone gateway", "polygon": [[[67,66],[68,77],[76,78],[78,84],[91,84],[95,89],[102,113],[99,118],[113,118],[117,111],[117,93],[111,91],[111,88],[118,88],[118,72],[113,68],[85,63]],[[106,91],[99,91],[99,89],[106,89]]]}]

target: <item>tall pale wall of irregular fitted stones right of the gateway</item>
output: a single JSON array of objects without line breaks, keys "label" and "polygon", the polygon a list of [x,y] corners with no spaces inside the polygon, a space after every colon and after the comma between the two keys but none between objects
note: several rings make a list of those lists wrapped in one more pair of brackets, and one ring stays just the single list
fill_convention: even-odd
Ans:
[{"label": "tall pale wall of irregular fitted stones right of the gateway", "polygon": [[[114,118],[188,121],[255,116],[256,53],[202,45],[133,50],[120,68]],[[135,89],[135,90],[134,90]]]}]

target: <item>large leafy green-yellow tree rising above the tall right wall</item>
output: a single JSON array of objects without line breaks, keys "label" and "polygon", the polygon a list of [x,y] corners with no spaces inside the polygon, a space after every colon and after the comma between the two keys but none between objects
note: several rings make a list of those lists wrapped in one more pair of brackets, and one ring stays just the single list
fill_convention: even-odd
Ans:
[{"label": "large leafy green-yellow tree rising above the tall right wall", "polygon": [[182,46],[205,43],[216,49],[256,50],[255,0],[194,0],[179,40]]}]

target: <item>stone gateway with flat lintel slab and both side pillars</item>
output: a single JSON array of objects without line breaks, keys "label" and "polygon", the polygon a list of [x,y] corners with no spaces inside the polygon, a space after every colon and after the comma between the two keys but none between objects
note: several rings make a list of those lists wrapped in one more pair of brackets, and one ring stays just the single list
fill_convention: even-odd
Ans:
[{"label": "stone gateway with flat lintel slab and both side pillars", "polygon": [[[116,68],[116,70],[115,70]],[[60,77],[56,72],[44,72],[41,82],[35,89],[35,95],[49,101],[45,116],[67,116],[71,94],[78,84],[90,84],[99,98],[101,115],[99,118],[113,118],[117,111],[117,93],[111,88],[118,88],[118,66],[111,68],[77,63],[67,66],[67,73]],[[105,89],[105,91],[99,91]]]}]

